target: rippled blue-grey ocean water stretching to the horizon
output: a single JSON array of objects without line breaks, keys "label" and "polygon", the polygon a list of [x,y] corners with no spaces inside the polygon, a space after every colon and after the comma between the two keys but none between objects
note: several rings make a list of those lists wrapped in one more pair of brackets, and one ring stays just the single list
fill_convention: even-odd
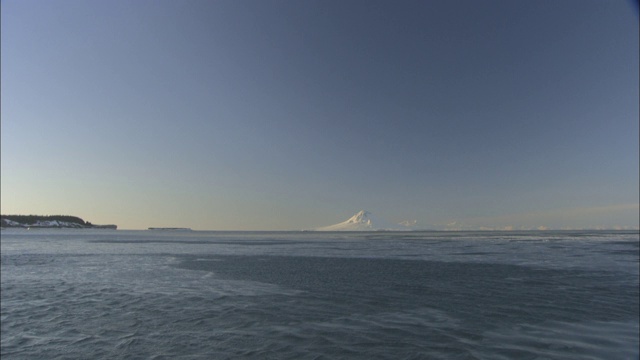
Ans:
[{"label": "rippled blue-grey ocean water stretching to the horizon", "polygon": [[2,359],[638,359],[638,232],[1,233]]}]

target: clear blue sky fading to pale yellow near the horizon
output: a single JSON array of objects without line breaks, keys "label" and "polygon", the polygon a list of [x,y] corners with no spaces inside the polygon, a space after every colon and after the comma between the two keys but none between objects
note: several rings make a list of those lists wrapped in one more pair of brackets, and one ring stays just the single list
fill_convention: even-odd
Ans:
[{"label": "clear blue sky fading to pale yellow near the horizon", "polygon": [[0,4],[2,214],[638,228],[634,1]]}]

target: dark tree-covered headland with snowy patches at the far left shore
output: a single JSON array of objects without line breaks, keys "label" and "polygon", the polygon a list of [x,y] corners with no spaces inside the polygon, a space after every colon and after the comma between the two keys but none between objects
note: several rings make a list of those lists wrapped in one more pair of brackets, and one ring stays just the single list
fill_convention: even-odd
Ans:
[{"label": "dark tree-covered headland with snowy patches at the far left shore", "polygon": [[117,229],[117,225],[95,225],[69,215],[0,215],[3,228]]}]

